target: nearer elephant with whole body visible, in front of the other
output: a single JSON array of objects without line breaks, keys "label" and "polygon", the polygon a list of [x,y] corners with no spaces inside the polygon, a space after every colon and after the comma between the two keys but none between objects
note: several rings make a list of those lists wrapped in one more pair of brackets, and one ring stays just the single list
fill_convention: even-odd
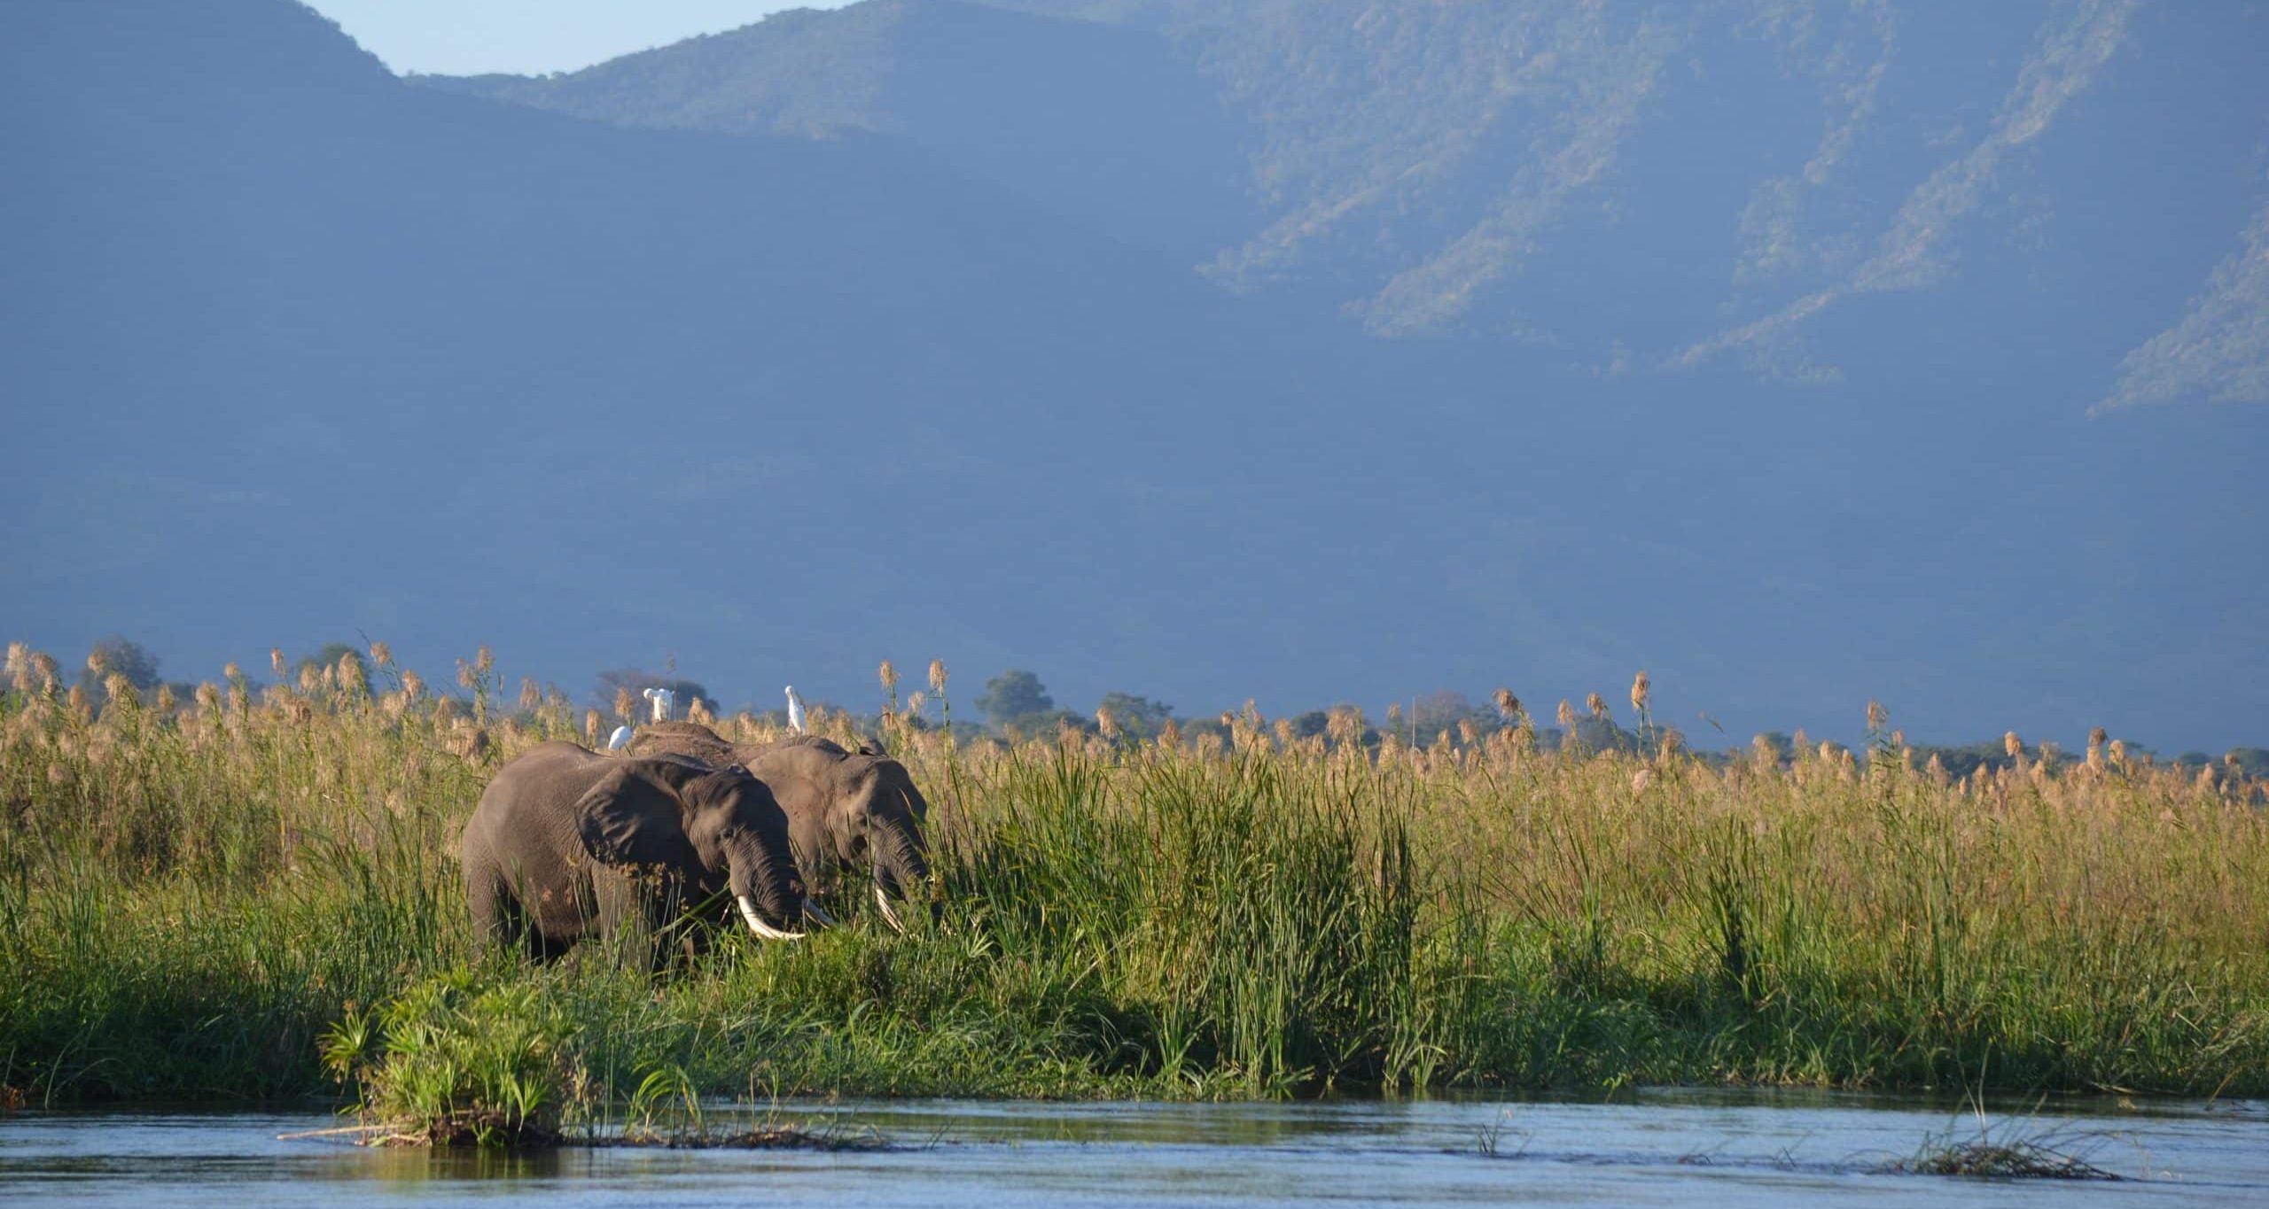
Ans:
[{"label": "nearer elephant with whole body visible, in front of the other", "polygon": [[765,939],[821,919],[805,912],[787,814],[742,767],[535,744],[497,769],[458,851],[474,932],[538,959],[660,928],[722,891]]}]

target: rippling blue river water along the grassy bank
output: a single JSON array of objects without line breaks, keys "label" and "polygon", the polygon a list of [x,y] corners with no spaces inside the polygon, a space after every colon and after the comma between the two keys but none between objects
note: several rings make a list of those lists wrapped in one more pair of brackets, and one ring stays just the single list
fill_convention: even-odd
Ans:
[{"label": "rippling blue river water along the grassy bank", "polygon": [[7,1204],[2269,1204],[2269,1102],[2015,1105],[1992,1136],[2040,1139],[2122,1182],[1883,1170],[1947,1105],[1836,1093],[1656,1091],[1616,1102],[787,1105],[876,1130],[878,1152],[563,1150],[540,1157],[281,1141],[324,1114],[0,1116]]}]

